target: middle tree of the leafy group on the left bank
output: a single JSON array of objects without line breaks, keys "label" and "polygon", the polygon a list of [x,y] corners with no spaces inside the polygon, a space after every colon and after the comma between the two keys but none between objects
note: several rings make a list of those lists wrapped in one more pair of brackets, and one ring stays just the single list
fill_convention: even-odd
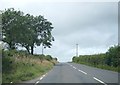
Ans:
[{"label": "middle tree of the leafy group on the left bank", "polygon": [[26,14],[25,16],[22,16],[22,19],[20,20],[22,20],[22,24],[19,26],[22,27],[22,34],[19,34],[20,39],[18,39],[17,43],[19,43],[22,47],[25,47],[28,53],[33,54],[33,51],[30,51],[30,47],[34,46],[34,42],[36,42],[37,39],[37,35],[33,28],[35,24],[33,23],[34,17],[30,14]]}]

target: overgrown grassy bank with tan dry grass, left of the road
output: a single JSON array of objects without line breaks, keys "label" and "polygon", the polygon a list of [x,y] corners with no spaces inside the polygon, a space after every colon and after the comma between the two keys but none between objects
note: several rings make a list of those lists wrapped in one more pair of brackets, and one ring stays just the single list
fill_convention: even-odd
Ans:
[{"label": "overgrown grassy bank with tan dry grass, left of the road", "polygon": [[49,71],[55,60],[44,55],[29,55],[24,52],[3,52],[2,82],[18,83],[41,76]]}]

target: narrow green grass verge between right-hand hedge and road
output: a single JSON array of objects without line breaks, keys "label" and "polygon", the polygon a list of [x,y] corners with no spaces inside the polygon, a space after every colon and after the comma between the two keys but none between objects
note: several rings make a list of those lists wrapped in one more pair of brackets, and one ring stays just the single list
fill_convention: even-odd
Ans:
[{"label": "narrow green grass verge between right-hand hedge and road", "polygon": [[93,65],[93,64],[85,63],[85,62],[79,62],[78,64],[84,64],[84,65],[87,65],[87,66],[92,66],[92,67],[96,67],[96,68],[100,68],[100,69],[120,72],[119,67],[112,67],[112,66],[102,65],[102,64]]}]

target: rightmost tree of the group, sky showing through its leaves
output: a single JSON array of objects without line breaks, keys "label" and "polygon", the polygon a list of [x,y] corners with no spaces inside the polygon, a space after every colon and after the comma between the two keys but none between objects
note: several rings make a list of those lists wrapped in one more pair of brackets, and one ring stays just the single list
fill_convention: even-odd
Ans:
[{"label": "rightmost tree of the group, sky showing through its leaves", "polygon": [[51,34],[53,27],[52,23],[44,19],[43,16],[39,15],[31,20],[31,30],[32,30],[32,42],[31,42],[31,54],[33,54],[33,49],[35,45],[40,46],[41,44],[46,47],[51,47],[51,42],[54,41],[54,37]]}]

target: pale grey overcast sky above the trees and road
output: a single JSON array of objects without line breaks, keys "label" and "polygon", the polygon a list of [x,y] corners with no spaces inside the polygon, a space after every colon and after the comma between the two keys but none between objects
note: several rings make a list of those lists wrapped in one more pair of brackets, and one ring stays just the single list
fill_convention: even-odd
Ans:
[{"label": "pale grey overcast sky above the trees and road", "polygon": [[[57,0],[58,1],[58,0]],[[105,53],[118,43],[117,0],[0,0],[0,10],[15,8],[52,22],[55,41],[44,54],[68,62],[76,55]],[[114,2],[113,2],[114,1]],[[41,54],[41,46],[35,48]]]}]

